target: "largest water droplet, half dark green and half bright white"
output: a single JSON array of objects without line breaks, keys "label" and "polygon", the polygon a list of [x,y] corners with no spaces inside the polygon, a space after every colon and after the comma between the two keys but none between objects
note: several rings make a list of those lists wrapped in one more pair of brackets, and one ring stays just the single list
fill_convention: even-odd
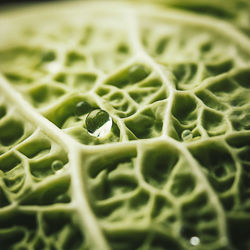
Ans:
[{"label": "largest water droplet, half dark green and half bright white", "polygon": [[112,119],[106,111],[95,109],[86,117],[85,125],[91,136],[104,137],[111,130]]}]

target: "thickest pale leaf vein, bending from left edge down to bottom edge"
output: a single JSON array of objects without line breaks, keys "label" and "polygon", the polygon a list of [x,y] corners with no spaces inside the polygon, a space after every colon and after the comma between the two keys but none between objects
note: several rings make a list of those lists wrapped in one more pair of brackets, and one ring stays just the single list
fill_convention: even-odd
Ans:
[{"label": "thickest pale leaf vein, bending from left edge down to bottom edge", "polygon": [[109,247],[106,240],[104,239],[97,220],[89,206],[87,194],[82,189],[84,184],[82,183],[83,179],[81,178],[79,170],[81,167],[81,163],[79,162],[79,143],[74,141],[70,136],[58,129],[53,123],[36,112],[36,110],[22,98],[21,94],[16,92],[2,76],[0,76],[0,91],[8,101],[13,103],[26,120],[39,127],[45,134],[68,152],[73,186],[73,203],[75,203],[76,209],[81,217],[81,226],[83,229],[88,230],[93,249],[108,250]]}]

